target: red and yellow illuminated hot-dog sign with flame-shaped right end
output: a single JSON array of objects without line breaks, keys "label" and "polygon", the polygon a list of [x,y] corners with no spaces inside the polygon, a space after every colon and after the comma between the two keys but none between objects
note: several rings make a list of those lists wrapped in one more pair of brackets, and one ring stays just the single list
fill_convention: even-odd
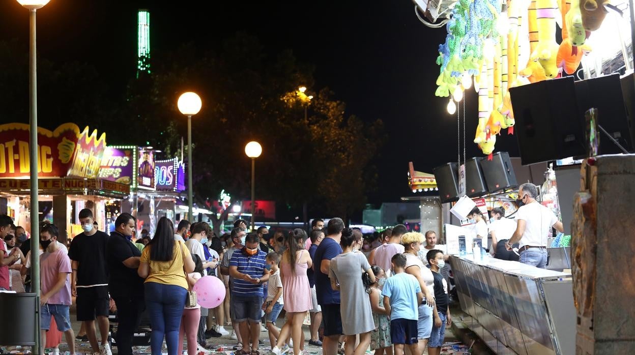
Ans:
[{"label": "red and yellow illuminated hot-dog sign with flame-shaped right end", "polygon": [[[29,177],[29,125],[0,124],[0,177]],[[37,128],[39,177],[97,177],[105,134],[65,123],[54,131]]]}]

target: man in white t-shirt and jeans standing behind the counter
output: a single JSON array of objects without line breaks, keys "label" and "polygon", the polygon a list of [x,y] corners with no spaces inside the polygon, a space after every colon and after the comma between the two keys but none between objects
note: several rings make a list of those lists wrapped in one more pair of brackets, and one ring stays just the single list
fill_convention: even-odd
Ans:
[{"label": "man in white t-shirt and jeans standing behind the counter", "polygon": [[518,191],[518,213],[516,213],[516,232],[505,243],[505,248],[511,250],[514,243],[520,242],[519,262],[545,269],[547,267],[547,238],[554,227],[556,231],[565,229],[558,217],[536,201],[538,190],[533,184],[520,185]]}]

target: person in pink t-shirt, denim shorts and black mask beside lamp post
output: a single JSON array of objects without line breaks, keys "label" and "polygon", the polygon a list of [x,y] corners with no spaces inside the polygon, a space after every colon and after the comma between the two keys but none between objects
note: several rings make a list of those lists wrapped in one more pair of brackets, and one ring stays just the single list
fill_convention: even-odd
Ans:
[{"label": "person in pink t-shirt, denim shorts and black mask beside lamp post", "polygon": [[[42,343],[46,344],[46,332],[50,329],[51,318],[57,323],[57,330],[63,332],[69,345],[70,354],[75,353],[75,334],[70,326],[70,259],[57,243],[59,230],[54,224],[43,224],[40,231],[40,328]],[[63,247],[63,246],[62,246]],[[59,354],[57,346],[53,354]]]}]

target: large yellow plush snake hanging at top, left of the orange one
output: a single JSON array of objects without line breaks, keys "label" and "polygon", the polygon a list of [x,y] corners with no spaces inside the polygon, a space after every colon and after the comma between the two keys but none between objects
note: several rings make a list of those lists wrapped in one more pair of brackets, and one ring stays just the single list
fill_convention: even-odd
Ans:
[{"label": "large yellow plush snake hanging at top, left of the orange one", "polygon": [[556,8],[558,8],[556,0],[537,0],[538,45],[530,57],[532,60],[538,60],[542,69],[545,70],[545,76],[549,79],[558,77],[559,74],[558,65],[556,65],[558,55]]}]

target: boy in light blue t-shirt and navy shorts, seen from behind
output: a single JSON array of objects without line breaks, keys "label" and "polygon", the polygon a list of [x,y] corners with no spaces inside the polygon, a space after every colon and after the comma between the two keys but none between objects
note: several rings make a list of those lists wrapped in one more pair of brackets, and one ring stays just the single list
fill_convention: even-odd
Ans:
[{"label": "boy in light blue t-shirt and navy shorts, seen from behind", "polygon": [[385,311],[391,315],[394,355],[403,355],[404,344],[408,345],[411,354],[417,354],[418,305],[424,299],[424,294],[417,278],[405,272],[405,255],[395,254],[391,258],[391,268],[393,276],[386,280],[382,296]]}]

